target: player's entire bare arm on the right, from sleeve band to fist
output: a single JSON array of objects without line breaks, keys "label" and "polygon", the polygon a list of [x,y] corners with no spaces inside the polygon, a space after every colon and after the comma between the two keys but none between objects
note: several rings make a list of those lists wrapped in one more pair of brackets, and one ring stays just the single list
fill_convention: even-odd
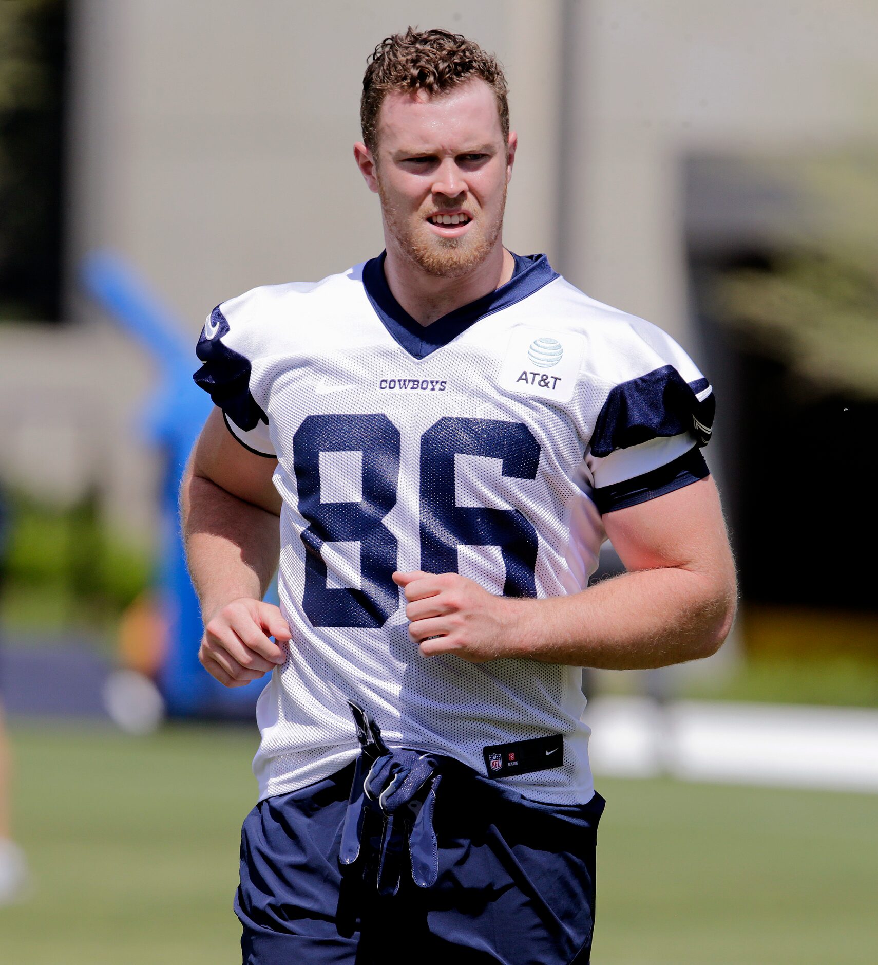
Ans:
[{"label": "player's entire bare arm on the right, from sleeve band to fist", "polygon": [[732,626],[734,561],[712,480],[604,515],[628,572],[572,596],[495,596],[457,573],[397,572],[425,657],[521,657],[611,670],[715,652]]}]

